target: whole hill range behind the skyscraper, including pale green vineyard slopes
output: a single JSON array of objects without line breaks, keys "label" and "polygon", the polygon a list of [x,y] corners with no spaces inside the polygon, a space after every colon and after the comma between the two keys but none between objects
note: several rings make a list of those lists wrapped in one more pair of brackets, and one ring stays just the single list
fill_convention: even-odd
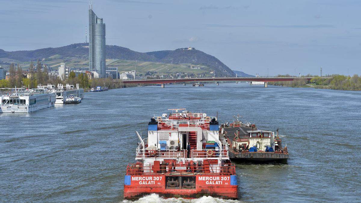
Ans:
[{"label": "whole hill range behind the skyscraper, including pale green vineyard slopes", "polygon": [[[7,52],[0,49],[0,64],[8,66],[11,62],[15,62],[23,65],[22,67],[27,67],[29,61],[43,60],[52,67],[59,66],[60,62],[66,62],[71,67],[86,67],[88,65],[88,52],[88,43],[70,44],[64,47],[43,48],[33,51]],[[138,71],[140,72],[182,72],[207,75],[214,75],[211,72],[215,72],[218,77],[235,76],[234,72],[216,57],[194,48],[142,53],[125,47],[107,45],[106,57],[107,66],[115,66],[119,70],[131,70],[133,67],[127,64],[139,61],[137,66],[139,66]],[[109,62],[109,60],[112,60],[112,62]]]}]

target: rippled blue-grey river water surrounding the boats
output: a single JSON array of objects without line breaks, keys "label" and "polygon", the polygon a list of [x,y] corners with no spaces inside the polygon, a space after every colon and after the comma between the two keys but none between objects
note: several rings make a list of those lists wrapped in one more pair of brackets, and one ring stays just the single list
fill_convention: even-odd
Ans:
[{"label": "rippled blue-grey river water surrounding the boats", "polygon": [[[280,129],[288,164],[236,164],[241,202],[361,202],[361,92],[170,85],[88,92],[78,105],[0,115],[0,202],[127,202],[123,181],[153,115],[187,108]],[[236,202],[146,196],[138,202]]]}]

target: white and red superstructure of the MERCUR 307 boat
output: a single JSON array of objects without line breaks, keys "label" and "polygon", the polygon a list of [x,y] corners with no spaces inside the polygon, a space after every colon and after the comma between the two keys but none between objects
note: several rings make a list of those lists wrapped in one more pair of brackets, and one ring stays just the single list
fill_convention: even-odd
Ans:
[{"label": "white and red superstructure of the MERCUR 307 boat", "polygon": [[148,138],[139,136],[139,139],[138,160],[157,157],[184,161],[228,157],[228,146],[223,144],[224,140],[223,143],[219,140],[217,118],[206,113],[183,111],[155,116],[148,124]]}]

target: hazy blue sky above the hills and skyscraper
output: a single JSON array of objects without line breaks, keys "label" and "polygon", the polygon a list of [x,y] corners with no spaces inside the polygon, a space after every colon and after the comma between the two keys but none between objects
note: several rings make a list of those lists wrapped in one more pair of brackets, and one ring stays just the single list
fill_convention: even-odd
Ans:
[{"label": "hazy blue sky above the hills and skyscraper", "polygon": [[[195,47],[248,74],[361,74],[359,0],[93,0],[106,44]],[[88,0],[0,0],[0,49],[85,42]]]}]

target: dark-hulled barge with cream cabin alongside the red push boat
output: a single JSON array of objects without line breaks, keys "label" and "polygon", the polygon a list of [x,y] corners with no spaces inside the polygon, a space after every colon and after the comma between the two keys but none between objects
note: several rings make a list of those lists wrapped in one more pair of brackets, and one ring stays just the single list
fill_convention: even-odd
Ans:
[{"label": "dark-hulled barge with cream cabin alongside the red push boat", "polygon": [[283,162],[288,159],[287,145],[273,131],[257,129],[255,124],[243,123],[238,118],[222,124],[220,136],[226,139],[231,160],[243,162]]}]

